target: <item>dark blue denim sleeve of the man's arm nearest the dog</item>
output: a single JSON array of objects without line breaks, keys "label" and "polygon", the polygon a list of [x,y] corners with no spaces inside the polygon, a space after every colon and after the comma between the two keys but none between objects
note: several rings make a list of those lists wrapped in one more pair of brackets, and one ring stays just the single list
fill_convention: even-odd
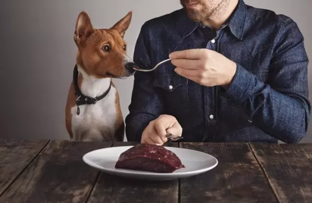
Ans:
[{"label": "dark blue denim sleeve of the man's arm nearest the dog", "polygon": [[[134,62],[139,68],[149,69],[152,47],[144,27],[143,25],[137,38]],[[153,86],[153,78],[153,72],[136,72],[134,75],[130,113],[125,119],[126,137],[129,142],[140,142],[143,130],[162,112],[161,95]]]}]

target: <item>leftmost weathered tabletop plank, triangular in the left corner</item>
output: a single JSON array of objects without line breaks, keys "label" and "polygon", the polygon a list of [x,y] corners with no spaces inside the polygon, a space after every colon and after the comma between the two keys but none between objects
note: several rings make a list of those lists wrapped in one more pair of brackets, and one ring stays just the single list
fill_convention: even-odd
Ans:
[{"label": "leftmost weathered tabletop plank, triangular in the left corner", "polygon": [[48,140],[0,140],[0,196],[47,143]]}]

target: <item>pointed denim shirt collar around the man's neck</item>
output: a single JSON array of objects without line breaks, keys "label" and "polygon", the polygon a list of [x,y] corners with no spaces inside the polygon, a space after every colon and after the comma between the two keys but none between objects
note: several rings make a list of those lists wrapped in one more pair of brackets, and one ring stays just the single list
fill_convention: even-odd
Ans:
[{"label": "pointed denim shirt collar around the man's neck", "polygon": [[[179,10],[179,20],[176,23],[176,28],[177,30],[181,30],[183,38],[188,37],[190,34],[192,34],[195,29],[198,26],[202,26],[200,22],[195,22],[188,18],[186,12],[184,9]],[[238,0],[238,4],[230,16],[228,20],[225,22],[225,26],[228,26],[232,32],[232,34],[239,38],[243,38],[244,34],[244,25],[245,25],[245,19],[246,19],[246,13],[247,13],[247,8],[246,4],[244,3],[243,0]]]}]

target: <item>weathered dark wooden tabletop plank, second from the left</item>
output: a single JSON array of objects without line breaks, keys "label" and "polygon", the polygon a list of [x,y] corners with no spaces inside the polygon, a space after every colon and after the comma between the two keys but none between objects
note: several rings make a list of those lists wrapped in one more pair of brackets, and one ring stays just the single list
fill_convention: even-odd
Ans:
[{"label": "weathered dark wooden tabletop plank, second from the left", "polygon": [[82,156],[111,143],[53,141],[0,197],[1,203],[84,203],[98,171]]}]

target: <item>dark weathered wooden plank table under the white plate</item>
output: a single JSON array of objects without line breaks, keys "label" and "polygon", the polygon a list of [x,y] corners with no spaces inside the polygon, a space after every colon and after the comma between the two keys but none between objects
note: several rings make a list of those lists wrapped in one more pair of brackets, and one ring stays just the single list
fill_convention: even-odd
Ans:
[{"label": "dark weathered wooden plank table under the white plate", "polygon": [[127,180],[82,161],[112,143],[0,140],[0,203],[312,203],[312,144],[170,146],[212,154],[219,164],[186,179]]}]

